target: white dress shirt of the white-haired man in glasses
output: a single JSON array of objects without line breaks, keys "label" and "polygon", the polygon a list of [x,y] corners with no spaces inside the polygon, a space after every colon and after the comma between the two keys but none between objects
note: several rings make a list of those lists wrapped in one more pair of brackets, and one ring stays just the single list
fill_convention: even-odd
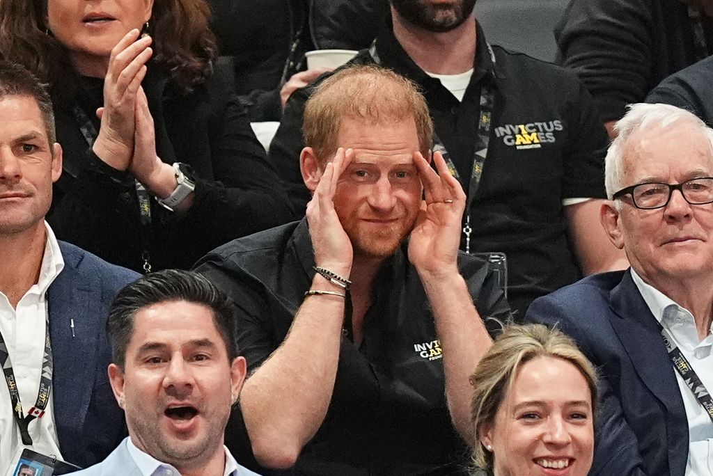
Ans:
[{"label": "white dress shirt of the white-haired man in glasses", "polygon": [[[631,270],[631,274],[651,314],[668,331],[704,387],[712,392],[713,333],[709,333],[702,341],[699,340],[696,323],[690,311],[645,283],[634,269]],[[713,326],[711,331],[713,332]],[[675,368],[674,373],[688,419],[686,476],[711,476],[713,475],[713,422]]]}]

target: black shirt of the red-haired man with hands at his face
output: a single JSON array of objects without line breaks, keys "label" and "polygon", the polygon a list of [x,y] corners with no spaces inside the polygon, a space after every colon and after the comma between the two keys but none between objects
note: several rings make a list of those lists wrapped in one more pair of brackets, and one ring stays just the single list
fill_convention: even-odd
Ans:
[{"label": "black shirt of the red-haired man with hands at his face", "polygon": [[[289,474],[446,475],[466,467],[468,450],[446,408],[434,318],[405,253],[399,249],[379,272],[361,344],[344,332],[327,417]],[[198,271],[237,304],[238,341],[249,371],[287,336],[312,284],[313,265],[306,220],[237,239],[199,262]],[[481,316],[504,319],[506,301],[484,262],[461,254],[458,265]],[[347,308],[346,323],[348,314]],[[226,439],[241,462],[251,459],[243,457],[247,437],[240,415]]]}]

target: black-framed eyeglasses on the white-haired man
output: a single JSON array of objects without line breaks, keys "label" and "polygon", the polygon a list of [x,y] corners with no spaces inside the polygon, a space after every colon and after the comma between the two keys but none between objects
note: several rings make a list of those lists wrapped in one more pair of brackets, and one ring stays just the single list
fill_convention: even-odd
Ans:
[{"label": "black-framed eyeglasses on the white-haired man", "polygon": [[631,194],[635,207],[648,210],[668,205],[674,190],[681,192],[684,200],[691,205],[711,203],[713,202],[713,177],[701,177],[674,184],[640,183],[622,188],[612,198],[617,200],[624,195]]}]

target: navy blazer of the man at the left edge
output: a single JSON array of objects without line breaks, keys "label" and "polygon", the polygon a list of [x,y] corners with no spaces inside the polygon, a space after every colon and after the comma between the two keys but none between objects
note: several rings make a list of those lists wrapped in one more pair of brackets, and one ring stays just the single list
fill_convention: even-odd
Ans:
[{"label": "navy blazer of the man at the left edge", "polygon": [[138,274],[72,244],[59,247],[64,269],[47,291],[54,419],[63,459],[86,467],[127,435],[106,370],[111,351],[105,321],[117,291]]}]

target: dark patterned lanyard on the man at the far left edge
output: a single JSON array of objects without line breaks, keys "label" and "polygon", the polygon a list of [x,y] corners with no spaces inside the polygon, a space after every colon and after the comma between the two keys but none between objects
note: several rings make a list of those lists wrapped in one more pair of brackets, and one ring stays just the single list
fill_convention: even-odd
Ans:
[{"label": "dark patterned lanyard on the man at the far left edge", "polygon": [[42,361],[42,374],[40,377],[40,388],[37,392],[37,400],[34,407],[30,408],[27,415],[22,411],[22,403],[20,402],[20,392],[17,390],[17,382],[15,373],[12,370],[10,354],[8,353],[7,344],[0,333],[0,365],[5,374],[7,389],[10,391],[10,400],[12,402],[13,415],[15,421],[20,427],[20,435],[22,436],[22,444],[26,446],[32,445],[32,438],[28,427],[30,422],[35,418],[42,418],[44,410],[47,408],[49,394],[52,390],[52,349],[49,343],[49,315],[45,319],[45,348]]}]

